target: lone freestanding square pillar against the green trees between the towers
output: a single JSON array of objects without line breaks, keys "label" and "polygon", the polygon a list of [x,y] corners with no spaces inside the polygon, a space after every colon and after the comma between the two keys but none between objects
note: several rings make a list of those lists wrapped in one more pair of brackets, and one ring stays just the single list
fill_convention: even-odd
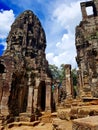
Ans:
[{"label": "lone freestanding square pillar against the green trees between the towers", "polygon": [[73,97],[72,78],[71,78],[71,65],[65,65],[65,78],[66,78],[66,98]]}]

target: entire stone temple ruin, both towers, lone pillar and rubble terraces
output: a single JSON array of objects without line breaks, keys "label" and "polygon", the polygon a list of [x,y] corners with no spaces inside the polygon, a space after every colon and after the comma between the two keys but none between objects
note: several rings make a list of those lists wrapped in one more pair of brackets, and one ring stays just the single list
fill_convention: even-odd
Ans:
[{"label": "entire stone temple ruin, both towers, lone pillar and rubble terraces", "polygon": [[[98,0],[80,6],[82,21],[76,27],[75,41],[76,97],[70,64],[64,65],[62,86],[52,77],[45,55],[45,32],[36,15],[24,11],[12,24],[7,49],[0,57],[3,130],[14,125],[33,128],[39,122],[40,126],[52,123],[52,130],[98,130]],[[88,7],[92,14],[87,13]]]}]

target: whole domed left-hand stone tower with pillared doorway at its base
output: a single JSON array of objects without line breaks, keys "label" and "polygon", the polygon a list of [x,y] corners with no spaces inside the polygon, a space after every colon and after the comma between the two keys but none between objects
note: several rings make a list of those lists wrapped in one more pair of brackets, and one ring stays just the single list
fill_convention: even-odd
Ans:
[{"label": "whole domed left-hand stone tower with pillared doorway at its base", "polygon": [[32,11],[11,26],[0,57],[0,111],[4,115],[51,111],[51,73],[45,56],[46,37]]}]

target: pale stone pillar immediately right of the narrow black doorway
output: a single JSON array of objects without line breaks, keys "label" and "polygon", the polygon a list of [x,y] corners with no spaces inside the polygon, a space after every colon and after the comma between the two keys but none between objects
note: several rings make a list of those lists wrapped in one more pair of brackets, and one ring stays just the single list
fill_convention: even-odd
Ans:
[{"label": "pale stone pillar immediately right of the narrow black doorway", "polygon": [[46,81],[46,106],[45,110],[51,112],[51,79],[47,79]]}]

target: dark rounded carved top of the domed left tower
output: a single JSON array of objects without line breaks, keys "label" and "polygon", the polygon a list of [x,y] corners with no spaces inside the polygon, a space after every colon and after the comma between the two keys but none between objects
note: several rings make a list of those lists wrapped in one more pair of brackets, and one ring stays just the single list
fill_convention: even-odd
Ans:
[{"label": "dark rounded carved top of the domed left tower", "polygon": [[33,12],[25,11],[15,20],[11,27],[7,43],[10,46],[9,49],[11,48],[12,50],[17,50],[16,45],[19,45],[21,50],[25,48],[25,52],[28,55],[36,53],[38,52],[37,50],[41,49],[45,51],[45,33],[40,21]]}]

